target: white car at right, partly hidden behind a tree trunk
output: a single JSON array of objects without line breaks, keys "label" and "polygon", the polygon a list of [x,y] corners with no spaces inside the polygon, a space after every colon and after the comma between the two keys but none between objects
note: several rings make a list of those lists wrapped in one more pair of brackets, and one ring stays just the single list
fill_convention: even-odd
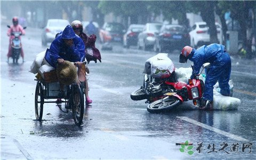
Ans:
[{"label": "white car at right, partly hidden behind a tree trunk", "polygon": [[[221,25],[215,23],[217,29],[218,43],[223,43],[223,34]],[[210,34],[209,27],[206,25],[206,22],[196,22],[195,25],[191,27],[190,35],[190,44],[192,47],[200,47],[201,45],[210,44]]]}]

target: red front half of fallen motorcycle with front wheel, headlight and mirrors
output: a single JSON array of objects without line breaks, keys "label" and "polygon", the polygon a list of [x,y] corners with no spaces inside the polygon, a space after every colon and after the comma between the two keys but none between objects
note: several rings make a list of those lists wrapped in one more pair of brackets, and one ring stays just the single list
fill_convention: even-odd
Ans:
[{"label": "red front half of fallen motorcycle with front wheel, headlight and mirrors", "polygon": [[[210,63],[204,63],[203,69],[208,68]],[[188,84],[185,82],[165,82],[172,89],[172,92],[164,94],[162,99],[150,103],[147,110],[150,113],[159,113],[171,110],[183,103],[184,101],[193,100],[194,105],[202,107],[202,97],[204,92],[204,82],[199,79],[202,71],[195,74],[194,64],[191,64],[193,70],[193,79],[189,79]],[[197,104],[198,103],[198,104]]]}]

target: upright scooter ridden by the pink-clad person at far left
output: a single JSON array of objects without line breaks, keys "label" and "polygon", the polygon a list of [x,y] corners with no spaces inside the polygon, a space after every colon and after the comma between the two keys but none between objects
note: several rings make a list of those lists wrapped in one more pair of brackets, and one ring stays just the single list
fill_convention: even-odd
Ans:
[{"label": "upright scooter ridden by the pink-clad person at far left", "polygon": [[[8,28],[11,28],[9,25],[7,25]],[[23,29],[26,29],[27,27],[24,27]],[[12,60],[13,63],[18,63],[18,59],[20,58],[21,53],[21,41],[19,36],[22,34],[19,31],[13,31],[11,33],[12,36],[14,36],[13,39],[11,39],[11,52],[12,52]]]}]

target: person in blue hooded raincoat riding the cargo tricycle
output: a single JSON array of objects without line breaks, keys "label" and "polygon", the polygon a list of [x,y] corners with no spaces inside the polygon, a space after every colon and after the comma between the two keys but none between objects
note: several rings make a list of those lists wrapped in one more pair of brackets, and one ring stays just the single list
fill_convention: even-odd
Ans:
[{"label": "person in blue hooded raincoat riding the cargo tricycle", "polygon": [[68,25],[52,42],[50,49],[46,50],[45,60],[54,68],[57,63],[64,60],[82,62],[85,60],[85,44],[77,36],[73,28]]}]

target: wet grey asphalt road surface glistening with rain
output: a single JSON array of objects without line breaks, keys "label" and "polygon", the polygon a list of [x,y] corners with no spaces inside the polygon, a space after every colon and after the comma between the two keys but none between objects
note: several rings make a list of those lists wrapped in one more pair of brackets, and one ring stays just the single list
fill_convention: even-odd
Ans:
[{"label": "wet grey asphalt road surface glistening with rain", "polygon": [[[234,97],[241,99],[238,110],[198,111],[187,109],[193,105],[186,102],[171,113],[150,114],[147,104],[132,101],[130,93],[142,85],[144,63],[156,53],[114,44],[113,51],[101,50],[102,63],[89,64],[93,103],[86,108],[83,125],[77,127],[71,113],[62,113],[51,103],[44,105],[43,121],[35,121],[36,82],[28,70],[35,55],[46,49],[41,30],[26,29],[22,37],[26,62],[20,60],[19,65],[6,62],[6,30],[2,25],[2,159],[255,158],[255,60],[232,58]],[[169,53],[175,67],[189,67],[178,63],[178,55],[179,51]],[[193,148],[185,146],[185,151],[193,151],[192,155],[175,145],[187,140]]]}]

